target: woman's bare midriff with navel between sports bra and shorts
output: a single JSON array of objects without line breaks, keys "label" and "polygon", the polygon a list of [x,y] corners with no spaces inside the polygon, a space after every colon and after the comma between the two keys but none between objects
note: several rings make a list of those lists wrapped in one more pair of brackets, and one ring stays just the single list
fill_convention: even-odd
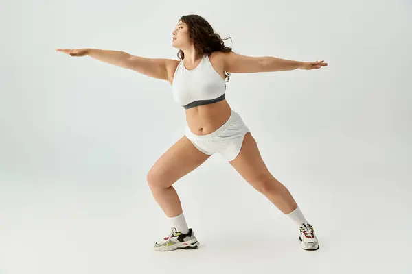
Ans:
[{"label": "woman's bare midriff with navel between sports bra and shorts", "polygon": [[207,135],[221,127],[231,114],[226,100],[185,110],[187,126],[196,135]]}]

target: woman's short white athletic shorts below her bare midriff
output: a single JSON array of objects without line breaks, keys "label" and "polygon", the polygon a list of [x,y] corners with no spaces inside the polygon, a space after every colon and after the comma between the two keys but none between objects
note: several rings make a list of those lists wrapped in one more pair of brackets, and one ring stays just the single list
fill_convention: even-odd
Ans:
[{"label": "woman's short white athletic shorts below her bare midriff", "polygon": [[219,153],[230,162],[238,156],[244,134],[247,132],[249,128],[244,124],[242,117],[232,110],[225,124],[211,134],[196,135],[186,124],[185,136],[203,153],[207,155]]}]

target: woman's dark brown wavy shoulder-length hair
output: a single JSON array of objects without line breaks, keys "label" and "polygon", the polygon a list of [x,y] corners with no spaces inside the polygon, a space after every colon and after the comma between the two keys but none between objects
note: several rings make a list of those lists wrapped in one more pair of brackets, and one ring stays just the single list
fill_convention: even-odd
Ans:
[{"label": "woman's dark brown wavy shoulder-length hair", "polygon": [[[224,42],[227,39],[231,40],[231,37],[220,38],[220,35],[214,32],[213,27],[202,16],[189,14],[182,16],[180,20],[189,27],[189,38],[192,39],[194,49],[198,54],[210,56],[214,51],[232,52],[231,47],[226,47]],[[179,50],[177,57],[183,60],[185,59],[185,53]],[[228,82],[230,73],[225,71],[225,75],[225,82]]]}]

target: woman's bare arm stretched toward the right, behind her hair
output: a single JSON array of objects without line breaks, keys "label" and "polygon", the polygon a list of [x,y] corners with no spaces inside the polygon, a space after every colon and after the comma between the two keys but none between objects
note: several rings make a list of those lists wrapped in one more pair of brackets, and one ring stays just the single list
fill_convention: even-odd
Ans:
[{"label": "woman's bare arm stretched toward the right, behind her hair", "polygon": [[229,52],[222,54],[225,71],[229,73],[262,73],[292,71],[294,69],[320,69],[328,66],[321,62],[300,62],[271,56],[251,57]]}]

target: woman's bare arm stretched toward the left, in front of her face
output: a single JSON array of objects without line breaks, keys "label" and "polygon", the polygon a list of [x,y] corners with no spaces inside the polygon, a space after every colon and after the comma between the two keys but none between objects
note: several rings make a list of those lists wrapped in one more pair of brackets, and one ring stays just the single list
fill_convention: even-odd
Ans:
[{"label": "woman's bare arm stretched toward the left, in front of her face", "polygon": [[105,49],[56,49],[68,53],[71,56],[89,55],[95,60],[108,64],[114,64],[124,69],[131,69],[149,77],[163,79],[171,82],[174,69],[178,63],[177,60],[165,58],[144,58],[141,56],[131,55],[124,51],[113,51]]}]

